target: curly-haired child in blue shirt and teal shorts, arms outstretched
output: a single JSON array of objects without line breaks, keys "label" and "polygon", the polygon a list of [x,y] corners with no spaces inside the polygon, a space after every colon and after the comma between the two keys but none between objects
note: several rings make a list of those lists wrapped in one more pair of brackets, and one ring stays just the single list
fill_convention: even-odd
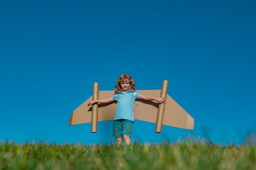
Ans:
[{"label": "curly-haired child in blue shirt and teal shorts, arms outstretched", "polygon": [[117,101],[112,133],[112,136],[116,137],[116,144],[121,144],[123,139],[125,144],[130,144],[132,123],[134,122],[133,108],[136,99],[155,100],[160,104],[165,103],[165,99],[162,97],[140,95],[135,91],[135,82],[132,77],[126,73],[118,77],[115,85],[115,95],[108,99],[99,99],[88,103],[89,106],[94,103],[109,103],[114,100]]}]

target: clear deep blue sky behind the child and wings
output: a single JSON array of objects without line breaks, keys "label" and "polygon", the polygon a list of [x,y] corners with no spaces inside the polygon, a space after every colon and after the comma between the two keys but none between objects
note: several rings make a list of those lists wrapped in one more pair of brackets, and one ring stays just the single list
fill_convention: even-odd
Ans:
[{"label": "clear deep blue sky behind the child and wings", "polygon": [[0,139],[109,143],[112,121],[68,126],[74,109],[129,73],[160,89],[194,130],[135,121],[132,140],[188,134],[243,142],[256,128],[256,2],[0,0]]}]

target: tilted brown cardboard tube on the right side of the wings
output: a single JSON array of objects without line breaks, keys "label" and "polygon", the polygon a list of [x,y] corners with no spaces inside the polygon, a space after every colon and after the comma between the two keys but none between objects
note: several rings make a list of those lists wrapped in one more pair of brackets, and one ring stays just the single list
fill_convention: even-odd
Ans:
[{"label": "tilted brown cardboard tube on the right side of the wings", "polygon": [[[168,89],[168,81],[163,80],[160,97],[164,97],[164,99],[166,99],[167,89]],[[159,103],[158,111],[157,111],[157,121],[155,124],[156,133],[161,133],[161,130],[162,130],[162,124],[163,124],[163,118],[164,118],[164,107],[165,107],[165,104]]]}]

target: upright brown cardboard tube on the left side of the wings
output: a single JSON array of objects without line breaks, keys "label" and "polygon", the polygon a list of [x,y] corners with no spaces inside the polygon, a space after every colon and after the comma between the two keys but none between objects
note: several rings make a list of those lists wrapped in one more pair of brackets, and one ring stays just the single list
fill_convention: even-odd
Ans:
[{"label": "upright brown cardboard tube on the left side of the wings", "polygon": [[[92,100],[99,99],[99,83],[93,83],[93,94]],[[97,133],[97,124],[98,124],[98,104],[95,103],[92,105],[92,127],[91,132]]]}]

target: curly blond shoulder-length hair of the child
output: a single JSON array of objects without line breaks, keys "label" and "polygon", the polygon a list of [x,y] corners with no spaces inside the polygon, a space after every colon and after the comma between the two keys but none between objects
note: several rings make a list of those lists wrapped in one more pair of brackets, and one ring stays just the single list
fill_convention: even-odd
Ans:
[{"label": "curly blond shoulder-length hair of the child", "polygon": [[122,83],[122,82],[125,82],[126,79],[127,79],[128,82],[130,83],[130,88],[129,88],[129,90],[132,90],[132,91],[134,91],[134,92],[136,91],[134,80],[132,79],[132,77],[131,77],[128,73],[125,73],[125,74],[120,75],[120,76],[117,78],[117,83],[116,83],[116,85],[115,85],[115,94],[117,94],[119,91],[122,91],[121,83]]}]

